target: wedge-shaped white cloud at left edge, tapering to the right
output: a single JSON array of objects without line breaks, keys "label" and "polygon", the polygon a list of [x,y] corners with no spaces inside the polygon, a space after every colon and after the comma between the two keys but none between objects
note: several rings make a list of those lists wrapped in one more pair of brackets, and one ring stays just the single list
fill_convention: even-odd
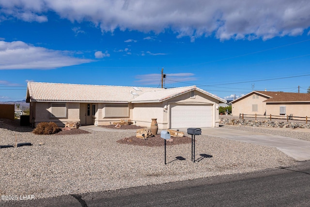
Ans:
[{"label": "wedge-shaped white cloud at left edge, tapering to the right", "polygon": [[52,69],[92,61],[72,57],[68,51],[34,47],[21,41],[0,41],[0,70]]}]

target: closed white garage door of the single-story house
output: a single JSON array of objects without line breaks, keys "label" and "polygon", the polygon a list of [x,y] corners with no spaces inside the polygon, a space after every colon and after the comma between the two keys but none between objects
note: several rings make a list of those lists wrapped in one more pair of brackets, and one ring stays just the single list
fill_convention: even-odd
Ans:
[{"label": "closed white garage door of the single-story house", "polygon": [[171,107],[171,128],[212,127],[212,106],[176,105]]}]

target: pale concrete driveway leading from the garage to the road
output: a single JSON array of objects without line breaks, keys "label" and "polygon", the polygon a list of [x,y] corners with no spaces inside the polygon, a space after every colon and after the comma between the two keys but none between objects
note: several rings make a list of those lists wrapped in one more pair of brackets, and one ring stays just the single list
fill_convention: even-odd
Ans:
[{"label": "pale concrete driveway leading from the garage to the road", "polygon": [[[186,128],[180,130],[187,132]],[[298,161],[310,160],[310,142],[305,140],[221,127],[202,128],[202,134],[240,142],[276,147],[286,155]]]}]

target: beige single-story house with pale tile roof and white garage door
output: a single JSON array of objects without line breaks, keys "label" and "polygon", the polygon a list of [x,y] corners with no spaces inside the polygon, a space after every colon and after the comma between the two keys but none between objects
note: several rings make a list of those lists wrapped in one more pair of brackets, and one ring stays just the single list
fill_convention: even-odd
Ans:
[{"label": "beige single-story house with pale tile roof and white garage door", "polygon": [[109,125],[120,119],[158,128],[218,127],[218,104],[226,100],[196,86],[172,89],[28,82],[30,122],[67,121]]}]

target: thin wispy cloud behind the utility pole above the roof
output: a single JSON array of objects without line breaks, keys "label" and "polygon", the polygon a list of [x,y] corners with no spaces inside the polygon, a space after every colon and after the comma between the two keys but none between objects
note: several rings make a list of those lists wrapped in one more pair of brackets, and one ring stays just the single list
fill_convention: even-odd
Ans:
[{"label": "thin wispy cloud behind the utility pole above the roof", "polygon": [[[197,78],[194,77],[195,74],[193,73],[169,73],[166,74],[165,84],[173,84],[176,82],[187,82],[187,81],[194,81]],[[135,77],[138,79],[136,82],[139,82],[143,85],[154,85],[159,84],[161,80],[161,74],[145,74],[145,75],[137,75]]]}]

